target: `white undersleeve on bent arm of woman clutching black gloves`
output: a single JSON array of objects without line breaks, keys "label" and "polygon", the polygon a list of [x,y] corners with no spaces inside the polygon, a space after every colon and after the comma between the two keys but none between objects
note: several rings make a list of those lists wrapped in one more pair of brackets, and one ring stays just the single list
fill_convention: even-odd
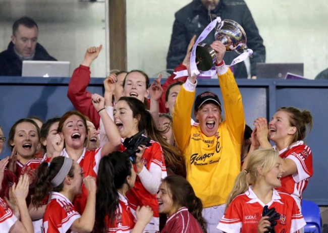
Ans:
[{"label": "white undersleeve on bent arm of woman clutching black gloves", "polygon": [[149,170],[143,167],[140,173],[138,173],[143,187],[151,194],[157,193],[161,182],[161,175],[161,167],[154,163],[150,164]]}]

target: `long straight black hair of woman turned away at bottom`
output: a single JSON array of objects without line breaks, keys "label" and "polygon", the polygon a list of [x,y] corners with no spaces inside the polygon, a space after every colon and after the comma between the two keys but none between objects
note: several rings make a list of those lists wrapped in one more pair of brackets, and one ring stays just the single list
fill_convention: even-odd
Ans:
[{"label": "long straight black hair of woman turned away at bottom", "polygon": [[131,176],[132,163],[124,152],[116,151],[101,158],[97,176],[96,232],[105,232],[105,217],[114,223],[115,211],[119,206],[118,190],[127,184]]}]

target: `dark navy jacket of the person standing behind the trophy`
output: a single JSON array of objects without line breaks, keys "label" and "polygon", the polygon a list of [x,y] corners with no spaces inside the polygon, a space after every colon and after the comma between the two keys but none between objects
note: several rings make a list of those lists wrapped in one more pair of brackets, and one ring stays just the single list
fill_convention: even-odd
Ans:
[{"label": "dark navy jacket of the person standing behind the trophy", "polygon": [[[256,75],[256,63],[265,62],[265,47],[263,40],[258,33],[253,17],[244,0],[220,0],[218,6],[211,11],[211,14],[220,16],[222,20],[231,19],[238,22],[245,30],[247,46],[254,53],[250,58],[251,75]],[[210,23],[207,9],[200,0],[194,0],[175,14],[171,43],[167,56],[167,69],[174,69],[184,59],[187,46],[193,35],[200,35],[205,27]],[[215,29],[206,37],[202,43],[211,44],[214,41]],[[224,60],[230,65],[237,57],[236,52],[226,52]],[[236,78],[247,78],[247,71],[244,63],[239,63],[233,67]]]}]

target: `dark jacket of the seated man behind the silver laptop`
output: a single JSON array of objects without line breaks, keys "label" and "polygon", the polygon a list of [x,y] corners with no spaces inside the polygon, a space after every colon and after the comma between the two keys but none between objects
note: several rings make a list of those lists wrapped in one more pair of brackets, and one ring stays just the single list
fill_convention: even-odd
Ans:
[{"label": "dark jacket of the seated man behind the silver laptop", "polygon": [[[57,61],[37,43],[33,61]],[[10,42],[7,50],[0,53],[0,76],[22,76],[23,62],[14,51],[14,44]]]}]

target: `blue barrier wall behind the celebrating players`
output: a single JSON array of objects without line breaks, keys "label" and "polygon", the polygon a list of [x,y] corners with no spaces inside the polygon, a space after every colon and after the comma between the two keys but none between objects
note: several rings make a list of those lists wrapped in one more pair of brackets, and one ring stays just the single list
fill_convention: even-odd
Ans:
[{"label": "blue barrier wall behind the celebrating players", "polygon": [[[42,120],[61,116],[73,105],[67,98],[69,78],[0,77],[0,125],[8,136],[10,127],[26,116],[39,116]],[[88,91],[103,93],[103,79],[91,79]],[[281,106],[306,108],[313,116],[313,129],[306,143],[313,153],[314,175],[304,193],[304,199],[319,205],[328,205],[328,169],[326,164],[328,81],[325,80],[237,80],[240,88],[246,123],[258,116],[268,120]],[[209,90],[221,97],[217,80],[198,81],[197,94]],[[9,155],[7,148],[1,154]],[[219,184],[218,184],[219,185]]]}]

